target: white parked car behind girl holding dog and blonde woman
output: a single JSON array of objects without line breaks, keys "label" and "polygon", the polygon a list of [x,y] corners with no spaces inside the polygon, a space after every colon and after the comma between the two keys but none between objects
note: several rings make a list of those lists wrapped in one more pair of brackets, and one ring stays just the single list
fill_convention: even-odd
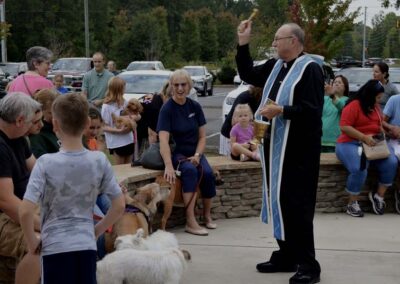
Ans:
[{"label": "white parked car behind girl holding dog and blonde woman", "polygon": [[[125,71],[117,76],[126,82],[124,99],[141,100],[148,94],[159,93],[171,74],[168,70],[136,70]],[[189,98],[198,100],[194,89],[190,91]]]}]

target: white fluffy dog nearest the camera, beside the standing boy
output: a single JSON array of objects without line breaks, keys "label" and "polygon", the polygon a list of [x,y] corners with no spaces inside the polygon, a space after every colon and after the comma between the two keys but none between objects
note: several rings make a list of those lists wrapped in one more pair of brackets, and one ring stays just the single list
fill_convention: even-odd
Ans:
[{"label": "white fluffy dog nearest the camera, beside the standing boy", "polygon": [[179,284],[186,268],[184,254],[161,251],[116,250],[97,262],[99,284]]}]

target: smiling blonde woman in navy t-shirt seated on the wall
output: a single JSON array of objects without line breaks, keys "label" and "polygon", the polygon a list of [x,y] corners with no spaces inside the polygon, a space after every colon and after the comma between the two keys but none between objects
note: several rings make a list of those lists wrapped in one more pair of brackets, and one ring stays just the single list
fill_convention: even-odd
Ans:
[{"label": "smiling blonde woman in navy t-shirt seated on the wall", "polygon": [[[205,226],[208,229],[217,227],[211,219],[211,198],[216,194],[215,177],[203,155],[206,145],[206,120],[200,104],[187,97],[192,88],[192,80],[187,71],[176,70],[169,82],[172,87],[172,98],[163,105],[157,125],[160,152],[165,164],[164,177],[168,182],[174,183],[177,178],[176,173],[180,171],[183,201],[186,207],[185,231],[206,236],[207,230],[197,223],[194,213],[196,189],[199,187],[203,200]],[[170,135],[176,143],[172,153],[168,144]]]}]

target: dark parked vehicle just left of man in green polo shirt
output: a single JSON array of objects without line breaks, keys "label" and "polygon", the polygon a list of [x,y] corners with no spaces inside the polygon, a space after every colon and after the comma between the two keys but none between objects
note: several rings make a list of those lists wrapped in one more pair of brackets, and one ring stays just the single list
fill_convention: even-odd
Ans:
[{"label": "dark parked vehicle just left of man in green polo shirt", "polygon": [[64,85],[72,92],[82,90],[83,75],[93,68],[92,58],[66,57],[57,59],[51,67],[47,78],[53,80],[54,75],[64,76]]}]

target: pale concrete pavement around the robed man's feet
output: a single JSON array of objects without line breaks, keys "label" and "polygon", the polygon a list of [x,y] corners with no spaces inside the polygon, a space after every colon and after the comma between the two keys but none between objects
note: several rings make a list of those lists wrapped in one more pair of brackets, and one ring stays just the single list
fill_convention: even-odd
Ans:
[{"label": "pale concrete pavement around the robed man's feet", "polygon": [[[176,234],[192,254],[182,283],[287,284],[293,273],[258,273],[255,266],[277,248],[271,226],[259,218],[217,220],[209,236],[194,236],[183,228]],[[316,214],[315,246],[324,284],[399,284],[400,216]]]}]

